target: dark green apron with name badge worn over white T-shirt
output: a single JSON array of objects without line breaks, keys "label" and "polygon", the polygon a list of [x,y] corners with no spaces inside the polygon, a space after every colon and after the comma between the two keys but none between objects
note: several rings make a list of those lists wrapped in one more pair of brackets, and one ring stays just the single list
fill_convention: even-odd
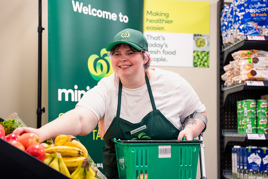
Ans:
[{"label": "dark green apron with name badge worn over white T-shirt", "polygon": [[119,179],[117,162],[116,162],[115,144],[111,140],[112,138],[117,139],[120,138],[121,140],[131,140],[131,139],[172,140],[177,139],[180,133],[180,131],[168,119],[166,119],[166,117],[160,112],[160,110],[156,109],[151,86],[146,73],[145,73],[145,80],[150,100],[152,103],[153,111],[148,113],[141,120],[141,122],[136,124],[133,124],[129,121],[120,118],[122,83],[121,80],[119,80],[116,117],[113,119],[113,122],[111,123],[110,127],[107,129],[105,135],[103,136],[103,139],[106,143],[102,150],[103,174],[108,179]]}]

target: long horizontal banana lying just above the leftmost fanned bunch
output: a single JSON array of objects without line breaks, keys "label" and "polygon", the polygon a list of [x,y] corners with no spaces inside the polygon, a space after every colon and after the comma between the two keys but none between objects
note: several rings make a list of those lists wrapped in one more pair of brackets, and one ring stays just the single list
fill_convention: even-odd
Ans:
[{"label": "long horizontal banana lying just above the leftmost fanned bunch", "polygon": [[69,146],[53,146],[48,149],[45,149],[46,153],[55,153],[59,152],[62,157],[79,157],[84,156],[84,152],[81,151],[77,147],[69,147]]}]

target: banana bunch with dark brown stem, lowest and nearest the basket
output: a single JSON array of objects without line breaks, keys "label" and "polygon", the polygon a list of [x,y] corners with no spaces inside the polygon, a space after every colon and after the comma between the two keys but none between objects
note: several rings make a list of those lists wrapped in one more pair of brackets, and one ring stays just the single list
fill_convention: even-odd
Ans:
[{"label": "banana bunch with dark brown stem, lowest and nearest the basket", "polygon": [[72,179],[95,179],[96,173],[90,168],[88,158],[82,161],[71,174]]}]

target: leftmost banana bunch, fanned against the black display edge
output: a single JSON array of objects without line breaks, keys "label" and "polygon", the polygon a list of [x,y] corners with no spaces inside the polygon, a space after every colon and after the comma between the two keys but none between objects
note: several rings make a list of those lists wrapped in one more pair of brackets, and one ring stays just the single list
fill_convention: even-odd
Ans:
[{"label": "leftmost banana bunch, fanned against the black display edge", "polygon": [[59,152],[55,152],[49,155],[49,157],[44,160],[44,163],[63,173],[67,177],[71,177],[70,172]]}]

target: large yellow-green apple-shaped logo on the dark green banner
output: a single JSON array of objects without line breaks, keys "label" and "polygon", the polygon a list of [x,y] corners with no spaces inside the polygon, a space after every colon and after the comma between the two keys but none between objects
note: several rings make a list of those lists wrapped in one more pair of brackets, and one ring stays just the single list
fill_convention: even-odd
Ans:
[{"label": "large yellow-green apple-shaped logo on the dark green banner", "polygon": [[107,55],[107,51],[105,49],[102,49],[100,51],[101,57],[93,54],[88,58],[89,73],[91,77],[96,81],[101,80],[103,77],[108,77],[113,73],[111,59],[105,55]]}]

